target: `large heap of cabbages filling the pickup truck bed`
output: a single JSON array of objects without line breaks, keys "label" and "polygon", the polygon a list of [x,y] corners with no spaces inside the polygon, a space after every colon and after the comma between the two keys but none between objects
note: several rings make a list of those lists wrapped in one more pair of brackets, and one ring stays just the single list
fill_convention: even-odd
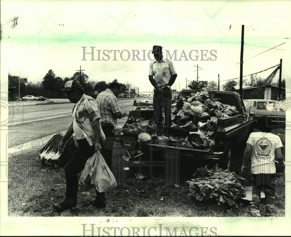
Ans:
[{"label": "large heap of cabbages filling the pickup truck bed", "polygon": [[217,131],[217,119],[235,116],[235,106],[219,102],[214,93],[197,90],[181,94],[177,103],[172,104],[173,134],[187,134],[185,140],[188,148],[205,149],[214,145]]}]

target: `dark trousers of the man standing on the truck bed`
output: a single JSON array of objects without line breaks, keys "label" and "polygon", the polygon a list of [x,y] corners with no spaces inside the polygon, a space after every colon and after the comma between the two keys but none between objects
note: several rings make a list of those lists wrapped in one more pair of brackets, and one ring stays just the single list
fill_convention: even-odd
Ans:
[{"label": "dark trousers of the man standing on the truck bed", "polygon": [[172,109],[172,92],[170,88],[164,87],[162,89],[164,93],[159,92],[158,90],[154,90],[154,97],[153,97],[153,107],[154,107],[154,122],[157,125],[157,128],[162,127],[162,117],[164,109],[165,112],[165,122],[164,128],[166,130],[171,128],[172,120],[171,120],[171,109]]}]

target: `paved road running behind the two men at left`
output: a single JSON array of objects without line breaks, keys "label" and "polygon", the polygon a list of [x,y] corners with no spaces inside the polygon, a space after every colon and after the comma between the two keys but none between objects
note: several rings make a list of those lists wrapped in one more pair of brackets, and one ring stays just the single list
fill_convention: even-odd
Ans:
[{"label": "paved road running behind the two men at left", "polygon": [[[26,103],[27,101],[24,101]],[[132,109],[133,100],[119,100],[122,111]],[[71,123],[72,103],[41,104],[35,103],[22,105],[14,103],[10,109],[8,121],[8,148],[15,146],[15,143],[33,141],[56,132],[67,130]],[[118,119],[117,127],[122,127],[127,119]]]}]

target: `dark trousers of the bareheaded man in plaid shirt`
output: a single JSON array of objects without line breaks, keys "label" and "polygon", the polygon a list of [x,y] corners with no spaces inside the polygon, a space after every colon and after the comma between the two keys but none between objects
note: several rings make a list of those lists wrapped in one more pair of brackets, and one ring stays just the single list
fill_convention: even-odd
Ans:
[{"label": "dark trousers of the bareheaded man in plaid shirt", "polygon": [[112,171],[112,145],[115,140],[114,138],[114,132],[115,128],[111,123],[101,122],[101,128],[105,134],[105,141],[102,142],[102,155],[103,158]]}]

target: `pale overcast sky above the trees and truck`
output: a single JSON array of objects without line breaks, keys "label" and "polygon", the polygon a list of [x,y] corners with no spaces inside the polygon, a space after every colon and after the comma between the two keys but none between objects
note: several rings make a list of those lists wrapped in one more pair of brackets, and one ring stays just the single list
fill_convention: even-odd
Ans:
[{"label": "pale overcast sky above the trees and truck", "polygon": [[[172,60],[178,74],[173,86],[177,90],[179,83],[180,89],[185,88],[186,78],[196,80],[197,65],[202,68],[199,80],[218,81],[219,74],[223,83],[239,77],[244,24],[243,75],[279,64],[282,58],[282,78],[290,79],[285,70],[290,60],[286,57],[288,47],[290,50],[286,38],[291,38],[290,2],[276,1],[273,7],[272,1],[266,3],[269,6],[250,1],[1,1],[1,51],[5,47],[1,71],[38,82],[49,69],[65,78],[81,65],[89,80],[116,78],[131,82],[140,91],[151,91],[148,69],[153,57],[149,51],[153,45],[161,45],[164,56],[166,50],[171,55],[176,52]],[[14,17],[18,17],[17,26],[12,27]],[[95,60],[89,54],[82,60],[82,46],[87,47],[86,52],[95,47]],[[140,60],[134,57],[137,53]],[[258,76],[267,77],[272,70]]]}]

